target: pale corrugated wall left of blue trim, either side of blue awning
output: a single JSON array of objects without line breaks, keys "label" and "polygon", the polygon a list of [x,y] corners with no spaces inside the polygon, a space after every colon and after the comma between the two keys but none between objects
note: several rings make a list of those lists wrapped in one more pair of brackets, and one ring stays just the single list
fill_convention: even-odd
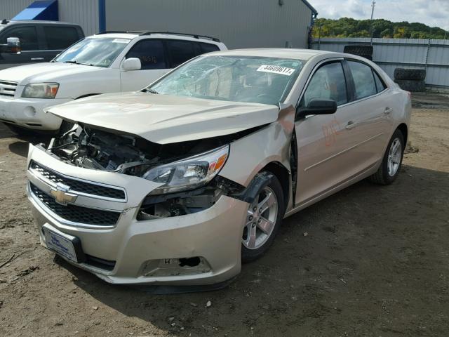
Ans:
[{"label": "pale corrugated wall left of blue trim, either side of blue awning", "polygon": [[[0,0],[0,20],[11,19],[34,0]],[[77,23],[84,34],[98,32],[98,0],[58,0],[59,20]]]}]

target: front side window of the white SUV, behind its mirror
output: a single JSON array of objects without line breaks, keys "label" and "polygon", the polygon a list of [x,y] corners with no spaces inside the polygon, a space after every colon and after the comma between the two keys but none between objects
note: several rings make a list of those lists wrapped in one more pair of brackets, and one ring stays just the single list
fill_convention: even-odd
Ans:
[{"label": "front side window of the white SUV, behind its mirror", "polygon": [[138,58],[142,63],[142,70],[168,68],[161,40],[148,39],[139,41],[128,51],[126,58]]}]

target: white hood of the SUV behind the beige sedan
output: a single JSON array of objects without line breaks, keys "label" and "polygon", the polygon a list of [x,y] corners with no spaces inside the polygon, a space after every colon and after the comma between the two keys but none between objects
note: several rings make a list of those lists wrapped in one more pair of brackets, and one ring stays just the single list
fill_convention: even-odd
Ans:
[{"label": "white hood of the SUV behind the beige sedan", "polygon": [[[18,82],[25,86],[29,83],[58,82],[70,75],[85,72],[99,72],[107,68],[74,65],[71,63],[44,62],[32,65],[20,65],[0,71],[0,80]],[[90,75],[95,76],[95,75]]]}]

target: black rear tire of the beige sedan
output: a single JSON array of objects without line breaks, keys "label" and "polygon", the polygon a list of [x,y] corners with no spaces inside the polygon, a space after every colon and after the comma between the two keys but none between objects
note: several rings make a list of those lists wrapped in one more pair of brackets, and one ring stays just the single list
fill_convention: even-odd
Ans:
[{"label": "black rear tire of the beige sedan", "polygon": [[[396,160],[392,158],[393,161],[396,162],[397,167],[394,167],[394,174],[391,174],[392,171],[391,169],[389,169],[389,158],[391,149],[394,147],[394,144],[396,144],[397,141],[400,143],[401,148],[399,149],[399,152],[396,153]],[[387,150],[385,151],[384,157],[382,159],[382,164],[380,164],[377,172],[374,173],[373,176],[370,176],[368,179],[372,183],[376,183],[379,185],[390,185],[391,183],[393,183],[394,180],[398,178],[399,171],[401,171],[402,158],[405,148],[404,136],[400,130],[396,129],[388,143]]]}]

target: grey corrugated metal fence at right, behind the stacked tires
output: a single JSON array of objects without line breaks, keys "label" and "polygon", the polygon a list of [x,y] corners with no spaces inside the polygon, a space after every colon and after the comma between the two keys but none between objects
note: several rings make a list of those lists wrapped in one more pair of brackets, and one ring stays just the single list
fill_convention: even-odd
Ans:
[{"label": "grey corrugated metal fence at right, behind the stacked tires", "polygon": [[[370,44],[370,39],[315,39],[312,46],[343,52],[348,44]],[[373,47],[373,61],[391,78],[398,67],[426,68],[427,86],[449,89],[449,40],[373,39]]]}]

